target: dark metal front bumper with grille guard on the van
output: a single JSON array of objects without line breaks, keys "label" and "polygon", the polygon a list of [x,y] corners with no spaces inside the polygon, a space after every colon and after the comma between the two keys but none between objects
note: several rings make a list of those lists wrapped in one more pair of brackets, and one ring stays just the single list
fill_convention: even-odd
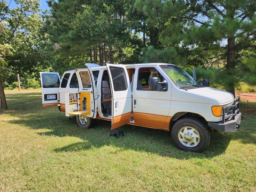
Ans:
[{"label": "dark metal front bumper with grille guard on the van", "polygon": [[[240,127],[241,119],[244,117],[239,112],[240,97],[234,99],[232,105],[222,107],[222,121],[220,122],[208,122],[208,125],[213,129],[216,129],[220,132],[236,132],[236,129]],[[226,113],[227,111],[227,113]]]}]

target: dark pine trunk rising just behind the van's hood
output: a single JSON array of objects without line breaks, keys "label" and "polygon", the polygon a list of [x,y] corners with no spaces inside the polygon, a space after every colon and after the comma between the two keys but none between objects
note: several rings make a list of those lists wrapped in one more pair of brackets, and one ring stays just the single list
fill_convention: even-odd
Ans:
[{"label": "dark pine trunk rising just behind the van's hood", "polygon": [[[227,55],[227,67],[226,69],[228,70],[228,76],[234,76],[235,73],[235,54],[236,54],[236,49],[235,49],[235,38],[228,38],[228,55]],[[229,84],[229,87],[227,89],[228,92],[231,92],[234,97],[235,97],[235,82],[232,84]]]}]

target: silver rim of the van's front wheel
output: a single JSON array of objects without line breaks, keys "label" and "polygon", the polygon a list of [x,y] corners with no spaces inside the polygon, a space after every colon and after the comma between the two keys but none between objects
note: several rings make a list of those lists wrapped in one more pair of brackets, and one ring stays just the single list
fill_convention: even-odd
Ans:
[{"label": "silver rim of the van's front wheel", "polygon": [[193,127],[185,126],[178,132],[180,143],[186,147],[196,147],[200,142],[200,135]]}]

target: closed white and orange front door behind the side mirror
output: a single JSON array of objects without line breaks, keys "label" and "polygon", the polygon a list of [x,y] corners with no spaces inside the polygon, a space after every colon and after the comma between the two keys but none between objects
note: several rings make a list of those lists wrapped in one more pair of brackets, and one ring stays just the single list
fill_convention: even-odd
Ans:
[{"label": "closed white and orange front door behind the side mirror", "polygon": [[[139,72],[141,74],[139,74]],[[157,74],[162,81],[165,79],[168,83],[168,90],[151,91],[146,88],[151,74]],[[138,80],[143,77],[147,77],[148,79],[146,79],[146,85],[141,86]],[[169,129],[171,118],[168,115],[171,105],[171,86],[168,77],[164,73],[161,73],[161,69],[159,69],[158,66],[136,68],[132,92],[134,123],[165,130]]]}]

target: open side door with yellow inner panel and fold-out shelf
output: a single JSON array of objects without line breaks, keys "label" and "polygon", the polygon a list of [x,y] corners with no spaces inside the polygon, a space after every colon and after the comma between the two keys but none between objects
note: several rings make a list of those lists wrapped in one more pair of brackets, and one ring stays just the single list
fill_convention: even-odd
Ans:
[{"label": "open side door with yellow inner panel and fold-out shelf", "polygon": [[[90,68],[76,69],[76,76],[79,84],[78,90],[78,110],[74,112],[68,112],[70,115],[82,115],[86,117],[96,117],[97,108],[97,91]],[[72,99],[72,98],[71,98]],[[69,95],[70,100],[70,95]],[[69,101],[70,103],[70,101]]]}]

